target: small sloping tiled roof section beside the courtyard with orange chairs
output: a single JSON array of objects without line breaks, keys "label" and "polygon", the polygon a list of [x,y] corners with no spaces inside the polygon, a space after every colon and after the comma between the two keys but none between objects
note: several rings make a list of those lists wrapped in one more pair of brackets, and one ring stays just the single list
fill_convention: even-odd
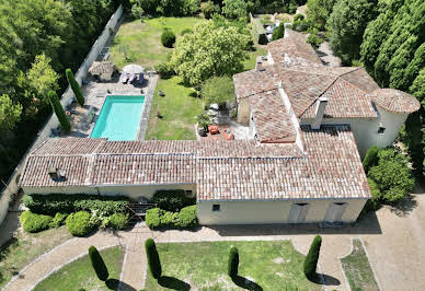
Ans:
[{"label": "small sloping tiled roof section beside the courtyard with orange chairs", "polygon": [[295,142],[296,131],[278,90],[250,97],[260,142]]}]

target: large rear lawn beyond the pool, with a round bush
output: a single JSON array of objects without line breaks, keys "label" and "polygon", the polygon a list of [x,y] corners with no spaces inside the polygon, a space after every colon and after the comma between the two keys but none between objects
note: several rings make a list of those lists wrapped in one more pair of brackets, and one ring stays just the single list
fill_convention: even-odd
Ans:
[{"label": "large rear lawn beyond the pool, with a round bush", "polygon": [[124,22],[111,46],[111,59],[118,68],[136,62],[152,69],[172,53],[172,48],[161,44],[164,27],[171,28],[179,38],[183,30],[193,28],[203,21],[199,18],[156,18],[143,23],[140,20]]}]

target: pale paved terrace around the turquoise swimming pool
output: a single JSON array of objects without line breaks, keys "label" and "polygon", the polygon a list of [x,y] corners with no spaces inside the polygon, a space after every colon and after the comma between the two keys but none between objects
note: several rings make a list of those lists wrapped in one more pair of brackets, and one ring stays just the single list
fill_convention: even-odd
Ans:
[{"label": "pale paved terrace around the turquoise swimming pool", "polygon": [[[118,75],[115,75],[111,82],[94,82],[89,81],[88,84],[82,86],[83,95],[85,97],[85,104],[80,107],[77,103],[70,105],[76,109],[74,114],[70,114],[71,132],[69,136],[77,138],[89,138],[99,114],[101,113],[105,96],[112,95],[145,95],[145,105],[142,118],[139,125],[139,133],[137,140],[145,139],[146,127],[149,120],[149,112],[152,103],[154,89],[158,81],[158,75],[152,74],[149,77],[145,74],[145,81],[141,85],[137,84],[123,84],[118,80]],[[70,108],[66,108],[70,109]],[[93,110],[95,116],[91,118],[90,112]],[[92,120],[90,120],[92,119]]]}]

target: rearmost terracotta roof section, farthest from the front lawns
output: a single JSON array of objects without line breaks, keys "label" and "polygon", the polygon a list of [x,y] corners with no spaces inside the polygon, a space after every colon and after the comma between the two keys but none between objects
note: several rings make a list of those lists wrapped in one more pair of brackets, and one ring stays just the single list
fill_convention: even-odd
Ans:
[{"label": "rearmost terracotta roof section, farthest from the front lawns", "polygon": [[285,30],[285,37],[274,40],[267,45],[273,60],[277,62],[302,63],[302,59],[309,66],[321,66],[322,61],[315,54],[310,44],[307,43],[307,36]]}]

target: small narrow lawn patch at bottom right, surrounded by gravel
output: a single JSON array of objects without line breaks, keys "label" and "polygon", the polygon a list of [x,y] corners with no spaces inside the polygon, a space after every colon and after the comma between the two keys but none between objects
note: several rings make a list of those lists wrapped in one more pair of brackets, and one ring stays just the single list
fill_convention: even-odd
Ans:
[{"label": "small narrow lawn patch at bottom right, surrounded by gravel", "polygon": [[353,240],[353,252],[341,259],[352,290],[379,290],[374,271],[359,240]]}]

